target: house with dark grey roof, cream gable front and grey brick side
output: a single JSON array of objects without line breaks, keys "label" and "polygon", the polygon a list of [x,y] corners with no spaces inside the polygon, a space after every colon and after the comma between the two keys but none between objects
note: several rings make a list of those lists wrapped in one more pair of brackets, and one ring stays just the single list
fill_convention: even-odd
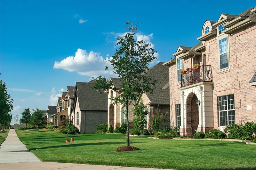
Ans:
[{"label": "house with dark grey roof, cream gable front and grey brick side", "polygon": [[74,125],[81,133],[95,133],[97,124],[108,122],[108,97],[92,89],[94,81],[76,82],[72,111]]}]

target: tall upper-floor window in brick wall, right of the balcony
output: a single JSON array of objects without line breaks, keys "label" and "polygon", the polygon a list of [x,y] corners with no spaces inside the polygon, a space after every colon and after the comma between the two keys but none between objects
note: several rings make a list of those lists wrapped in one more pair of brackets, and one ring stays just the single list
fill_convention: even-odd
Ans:
[{"label": "tall upper-floor window in brick wall, right of the balcony", "polygon": [[228,67],[228,43],[227,37],[219,40],[220,69]]}]

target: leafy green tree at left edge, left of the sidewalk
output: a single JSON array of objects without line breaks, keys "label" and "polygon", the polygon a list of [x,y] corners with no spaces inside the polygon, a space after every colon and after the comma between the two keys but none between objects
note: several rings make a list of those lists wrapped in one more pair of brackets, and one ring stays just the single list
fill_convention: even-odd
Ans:
[{"label": "leafy green tree at left edge, left of the sidewalk", "polygon": [[5,82],[0,80],[0,129],[2,133],[4,126],[7,126],[12,121],[12,114],[10,113],[13,109],[12,99],[10,94],[7,93]]}]

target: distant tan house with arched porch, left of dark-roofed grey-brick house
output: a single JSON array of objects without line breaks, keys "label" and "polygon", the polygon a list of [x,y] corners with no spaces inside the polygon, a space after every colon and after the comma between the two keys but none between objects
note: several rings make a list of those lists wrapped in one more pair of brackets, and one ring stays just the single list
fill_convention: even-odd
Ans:
[{"label": "distant tan house with arched porch, left of dark-roofed grey-brick house", "polygon": [[68,117],[68,92],[62,92],[62,96],[59,97],[57,103],[57,113],[52,115],[52,123],[55,126],[59,126],[60,122]]}]

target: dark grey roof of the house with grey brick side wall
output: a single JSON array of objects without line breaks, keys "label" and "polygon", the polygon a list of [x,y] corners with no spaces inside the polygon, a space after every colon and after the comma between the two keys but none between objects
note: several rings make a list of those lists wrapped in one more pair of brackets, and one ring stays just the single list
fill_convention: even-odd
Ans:
[{"label": "dark grey roof of the house with grey brick side wall", "polygon": [[[99,91],[92,89],[92,82],[76,82],[75,96],[78,98],[80,110],[108,110],[108,94],[99,94]],[[76,99],[75,99],[76,100]]]}]

